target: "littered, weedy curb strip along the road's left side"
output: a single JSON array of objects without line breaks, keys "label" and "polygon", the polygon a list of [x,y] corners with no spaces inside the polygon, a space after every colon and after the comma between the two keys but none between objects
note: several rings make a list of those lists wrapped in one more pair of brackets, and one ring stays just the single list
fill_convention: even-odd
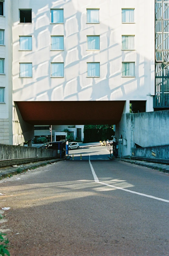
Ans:
[{"label": "littered, weedy curb strip along the road's left side", "polygon": [[[39,162],[39,163],[28,163],[28,164],[25,164],[26,166],[24,167],[18,167],[18,168],[20,168],[20,171],[19,171],[19,173],[22,173],[22,172],[27,172],[29,169],[31,170],[31,169],[36,169],[36,168],[38,168],[38,167],[41,167],[41,166],[45,166],[45,165],[48,165],[48,164],[50,164],[50,163],[54,163],[54,162],[59,162],[59,161],[63,161],[63,160],[65,160],[65,158],[63,158],[63,159],[52,159],[52,160],[46,160],[46,161],[41,161],[41,162]],[[10,167],[10,168],[6,168],[6,169],[9,169],[8,171],[6,170],[4,170],[3,169],[3,172],[0,172],[0,179],[2,179],[2,178],[7,178],[8,176],[10,176],[10,175],[17,175],[17,174],[19,174],[18,172],[17,172],[17,169],[18,168],[16,168],[16,167]],[[12,170],[11,170],[12,169]],[[2,169],[0,169],[0,170],[2,170]]]}]

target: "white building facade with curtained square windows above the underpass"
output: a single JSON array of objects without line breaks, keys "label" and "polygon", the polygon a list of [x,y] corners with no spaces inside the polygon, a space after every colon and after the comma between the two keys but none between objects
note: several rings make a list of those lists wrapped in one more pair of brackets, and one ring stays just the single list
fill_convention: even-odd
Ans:
[{"label": "white building facade with curtained square windows above the underpass", "polygon": [[[51,123],[45,118],[39,123],[28,122],[29,107],[22,114],[25,102],[27,106],[41,103],[42,112],[46,111],[42,103],[63,101],[67,108],[69,102],[77,101],[124,102],[123,113],[130,112],[130,104],[134,104],[134,112],[164,107],[153,103],[155,93],[158,96],[162,90],[155,87],[154,27],[155,5],[158,8],[157,4],[165,2],[168,13],[167,1],[1,2],[5,16],[0,16],[0,33],[5,30],[5,46],[0,45],[0,64],[4,59],[5,73],[0,74],[0,90],[5,96],[0,103],[0,120],[2,125],[10,121],[11,128],[6,133],[8,140],[0,136],[0,143],[20,145],[33,138],[33,125],[54,122],[52,117]],[[29,114],[36,111],[37,107],[31,108]],[[82,121],[79,124],[85,124]]]}]

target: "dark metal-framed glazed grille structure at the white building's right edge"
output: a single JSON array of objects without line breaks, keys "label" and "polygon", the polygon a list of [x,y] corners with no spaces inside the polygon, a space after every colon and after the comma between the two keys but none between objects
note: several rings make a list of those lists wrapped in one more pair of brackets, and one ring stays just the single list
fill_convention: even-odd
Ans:
[{"label": "dark metal-framed glazed grille structure at the white building's right edge", "polygon": [[155,107],[169,107],[169,0],[155,0]]}]

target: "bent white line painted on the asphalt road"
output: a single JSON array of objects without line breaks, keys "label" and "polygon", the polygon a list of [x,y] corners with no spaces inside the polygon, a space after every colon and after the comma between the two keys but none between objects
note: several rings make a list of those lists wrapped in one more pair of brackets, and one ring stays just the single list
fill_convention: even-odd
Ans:
[{"label": "bent white line painted on the asphalt road", "polygon": [[135,191],[128,190],[128,189],[123,189],[123,188],[120,188],[120,187],[115,187],[115,186],[113,186],[113,185],[110,185],[110,184],[101,182],[101,181],[99,181],[99,179],[97,178],[97,175],[96,175],[96,173],[95,173],[95,171],[94,171],[94,169],[93,169],[93,166],[92,166],[91,160],[90,160],[90,155],[89,155],[89,164],[90,164],[90,166],[91,166],[91,171],[92,171],[92,174],[93,174],[93,177],[94,177],[94,181],[95,181],[96,183],[103,184],[103,185],[106,185],[106,186],[108,186],[108,187],[112,187],[112,188],[115,188],[115,189],[120,189],[120,190],[123,190],[123,191],[126,191],[126,192],[130,192],[130,193],[133,193],[133,194],[138,194],[138,195],[150,197],[150,198],[153,198],[153,199],[156,199],[156,200],[160,200],[160,201],[169,203],[169,200],[166,200],[166,199],[163,199],[163,198],[159,198],[159,197],[155,197],[155,196],[152,196],[152,195],[147,195],[147,194],[135,192]]}]

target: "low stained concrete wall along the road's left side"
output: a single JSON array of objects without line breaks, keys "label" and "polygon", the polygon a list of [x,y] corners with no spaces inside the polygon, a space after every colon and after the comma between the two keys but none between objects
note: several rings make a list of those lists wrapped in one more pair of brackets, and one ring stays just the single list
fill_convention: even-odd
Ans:
[{"label": "low stained concrete wall along the road's left side", "polygon": [[0,167],[59,158],[57,150],[0,144]]}]

